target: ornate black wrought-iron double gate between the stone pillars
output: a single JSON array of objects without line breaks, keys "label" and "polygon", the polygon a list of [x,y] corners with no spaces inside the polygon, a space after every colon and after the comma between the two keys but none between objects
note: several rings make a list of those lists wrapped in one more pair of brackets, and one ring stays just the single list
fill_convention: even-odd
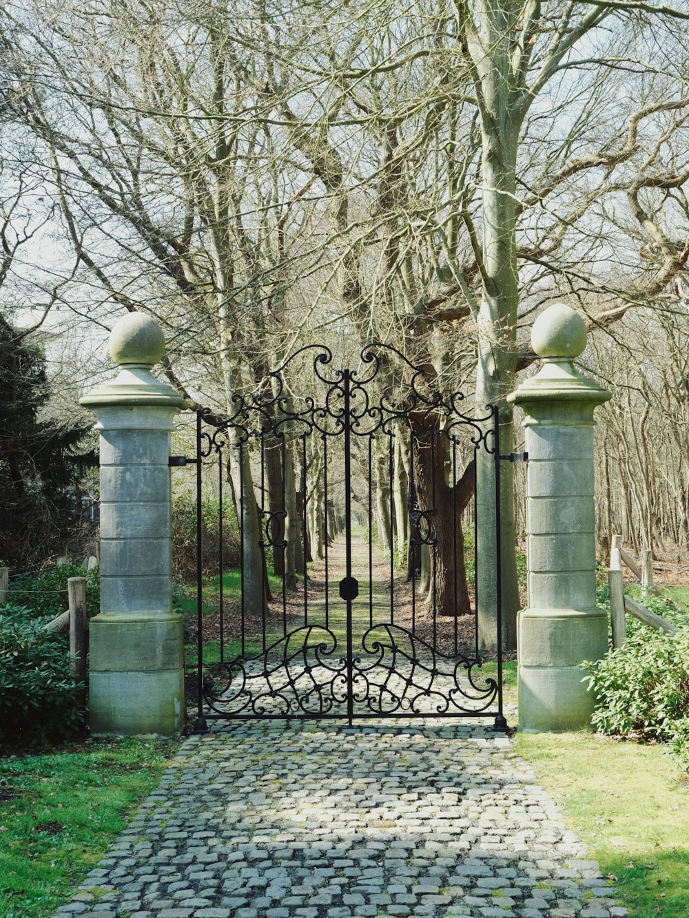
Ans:
[{"label": "ornate black wrought-iron double gate between the stone pillars", "polygon": [[356,370],[311,345],[235,398],[228,420],[198,412],[199,729],[487,715],[505,726],[501,655],[481,669],[471,550],[482,452],[499,605],[497,410],[473,417],[463,399],[427,389],[387,345],[367,345]]}]

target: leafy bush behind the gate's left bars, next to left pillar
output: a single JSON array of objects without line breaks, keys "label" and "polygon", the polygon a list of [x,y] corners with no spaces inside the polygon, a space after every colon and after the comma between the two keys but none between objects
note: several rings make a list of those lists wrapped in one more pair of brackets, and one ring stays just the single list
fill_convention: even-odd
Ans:
[{"label": "leafy bush behind the gate's left bars, next to left pillar", "polygon": [[[197,572],[197,501],[195,494],[173,500],[173,577],[188,583]],[[201,572],[212,576],[219,565],[226,570],[240,563],[239,524],[232,505],[222,504],[222,557],[220,559],[220,501],[204,498],[201,504]]]}]

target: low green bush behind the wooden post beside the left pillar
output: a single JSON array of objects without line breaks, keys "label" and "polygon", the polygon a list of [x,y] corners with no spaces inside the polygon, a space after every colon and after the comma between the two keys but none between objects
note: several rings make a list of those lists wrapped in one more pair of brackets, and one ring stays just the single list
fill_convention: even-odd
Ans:
[{"label": "low green bush behind the wooden post beside the left pillar", "polygon": [[79,565],[50,567],[38,574],[13,577],[9,584],[9,600],[14,607],[30,610],[33,616],[56,618],[69,605],[67,580],[85,577],[86,611],[96,615],[100,606],[100,575],[98,571],[85,571]]}]

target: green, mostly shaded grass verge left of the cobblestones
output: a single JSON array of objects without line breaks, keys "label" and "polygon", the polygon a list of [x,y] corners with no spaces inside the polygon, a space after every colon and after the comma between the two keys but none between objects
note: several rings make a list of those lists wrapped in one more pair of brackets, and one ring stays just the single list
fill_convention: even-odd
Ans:
[{"label": "green, mostly shaded grass verge left of the cobblestones", "polygon": [[175,740],[89,740],[0,760],[0,915],[45,918],[157,784]]}]

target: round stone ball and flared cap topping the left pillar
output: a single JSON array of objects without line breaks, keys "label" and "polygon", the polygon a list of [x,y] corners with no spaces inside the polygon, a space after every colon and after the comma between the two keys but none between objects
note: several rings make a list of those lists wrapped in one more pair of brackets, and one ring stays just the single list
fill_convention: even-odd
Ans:
[{"label": "round stone ball and flared cap topping the left pillar", "polygon": [[81,405],[90,409],[117,405],[189,407],[172,386],[152,375],[152,366],[165,354],[164,334],[155,319],[141,312],[127,313],[113,326],[108,350],[119,374],[82,397]]}]

